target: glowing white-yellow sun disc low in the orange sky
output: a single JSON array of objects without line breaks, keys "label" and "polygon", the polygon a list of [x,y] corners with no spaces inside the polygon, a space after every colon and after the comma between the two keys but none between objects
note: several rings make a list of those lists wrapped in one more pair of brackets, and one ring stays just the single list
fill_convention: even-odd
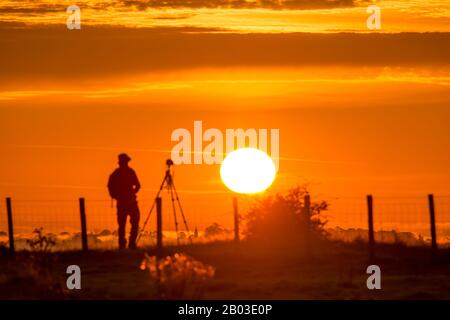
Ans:
[{"label": "glowing white-yellow sun disc low in the orange sky", "polygon": [[272,159],[254,148],[241,148],[229,153],[220,167],[223,183],[237,193],[262,192],[270,187],[275,174]]}]

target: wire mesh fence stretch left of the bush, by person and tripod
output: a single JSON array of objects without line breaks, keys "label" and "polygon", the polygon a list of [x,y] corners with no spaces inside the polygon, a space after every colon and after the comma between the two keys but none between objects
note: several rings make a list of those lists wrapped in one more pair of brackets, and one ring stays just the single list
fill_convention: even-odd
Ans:
[{"label": "wire mesh fence stretch left of the bush, by person and tripod", "polygon": [[[179,208],[176,209],[176,217],[172,211],[170,198],[163,194],[163,230],[166,244],[177,243],[177,238],[187,238],[189,235],[197,235],[197,241],[211,241],[228,239],[232,237],[233,209],[232,199],[223,195],[209,196],[205,200],[202,194],[186,194],[181,199],[181,204],[186,217],[186,225]],[[246,210],[249,201],[242,199],[241,208]],[[140,227],[149,216],[153,199],[141,199],[138,201],[141,211]],[[211,209],[211,203],[216,205]],[[116,203],[111,199],[85,199],[87,220],[87,236],[89,248],[116,248],[117,234],[117,209]],[[56,240],[56,250],[81,249],[81,222],[79,199],[74,200],[22,200],[12,199],[12,222],[14,225],[15,249],[28,249],[27,240],[34,238],[34,231],[43,230],[47,236]],[[176,232],[175,219],[178,222]],[[205,230],[214,224],[220,225],[220,229],[208,234]],[[140,244],[153,245],[156,241],[156,208],[154,208],[148,224],[143,230]],[[126,233],[129,233],[130,225],[127,223]],[[214,231],[214,230],[213,230]],[[180,237],[181,236],[181,237]],[[6,206],[0,206],[0,245],[8,245],[8,219]],[[184,239],[182,243],[187,243]]]}]

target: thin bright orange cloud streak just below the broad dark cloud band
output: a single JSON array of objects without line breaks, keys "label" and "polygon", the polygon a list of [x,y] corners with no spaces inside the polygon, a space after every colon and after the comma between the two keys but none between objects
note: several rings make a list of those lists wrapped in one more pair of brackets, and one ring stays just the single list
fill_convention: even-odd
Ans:
[{"label": "thin bright orange cloud streak just below the broad dark cloud band", "polygon": [[[304,87],[305,85],[327,85],[327,84],[343,84],[343,85],[362,85],[362,84],[418,84],[418,85],[430,85],[440,87],[450,87],[450,77],[445,73],[432,73],[427,70],[411,70],[389,68],[372,68],[371,71],[364,69],[365,75],[359,74],[357,70],[353,70],[353,73],[348,72],[345,75],[332,74],[331,71],[327,75],[314,74],[314,69],[310,71],[312,74],[303,76],[293,76],[292,73],[287,72],[285,69],[270,69],[270,77],[263,78],[264,75],[256,71],[247,71],[247,77],[239,78],[227,78],[226,76],[220,76],[220,70],[216,78],[213,79],[195,79],[190,78],[190,73],[179,73],[177,80],[167,79],[165,81],[131,81],[124,82],[123,84],[117,84],[111,87],[90,87],[89,89],[46,89],[37,87],[33,90],[0,90],[0,101],[2,100],[16,100],[16,99],[33,99],[39,97],[82,97],[85,99],[109,99],[120,97],[137,97],[143,96],[149,93],[157,93],[161,91],[179,92],[180,90],[201,90],[205,87],[217,87],[220,86],[271,86],[273,89],[276,86],[291,86],[291,87]],[[291,71],[291,70],[290,70]],[[444,71],[444,70],[443,70]],[[317,70],[316,70],[317,72]],[[221,78],[223,77],[223,78]],[[274,78],[275,77],[275,78]],[[270,91],[272,92],[272,91]],[[270,95],[270,92],[265,90],[265,95]],[[273,94],[277,94],[276,90],[273,90]]]}]

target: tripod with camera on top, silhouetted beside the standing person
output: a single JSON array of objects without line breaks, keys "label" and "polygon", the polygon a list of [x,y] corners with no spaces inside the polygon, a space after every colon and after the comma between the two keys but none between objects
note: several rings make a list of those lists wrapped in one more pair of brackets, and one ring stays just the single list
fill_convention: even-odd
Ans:
[{"label": "tripod with camera on top, silhouetted beside the standing person", "polygon": [[[141,238],[142,233],[144,232],[145,227],[147,226],[147,223],[150,220],[150,217],[152,215],[153,209],[156,206],[156,199],[159,198],[159,196],[161,194],[161,191],[163,190],[164,186],[167,188],[167,192],[169,193],[170,199],[171,199],[171,202],[172,202],[172,211],[173,211],[173,218],[174,218],[174,222],[175,222],[175,231],[176,231],[176,234],[177,234],[177,244],[178,245],[180,244],[180,237],[178,235],[178,219],[177,219],[177,210],[176,210],[175,202],[177,202],[177,204],[178,204],[178,208],[180,210],[181,217],[183,219],[183,223],[184,223],[184,226],[186,228],[186,232],[187,232],[188,237],[189,237],[189,227],[188,227],[188,224],[187,224],[187,221],[186,221],[186,217],[184,215],[183,208],[181,207],[180,199],[178,198],[178,193],[177,193],[177,189],[175,188],[175,183],[173,182],[172,173],[170,171],[170,167],[173,166],[173,165],[174,165],[174,163],[173,163],[172,159],[167,159],[166,160],[167,169],[166,169],[166,173],[164,175],[164,179],[163,179],[163,181],[161,183],[161,186],[158,189],[158,192],[156,193],[155,201],[153,201],[153,204],[152,204],[152,206],[150,208],[150,211],[149,211],[149,213],[147,215],[147,218],[144,221],[144,225],[142,226],[142,229],[139,232],[139,235],[138,235],[138,237],[136,239],[136,243],[139,242],[139,239]],[[189,237],[189,239],[190,239],[190,241],[192,243],[192,238]]]}]

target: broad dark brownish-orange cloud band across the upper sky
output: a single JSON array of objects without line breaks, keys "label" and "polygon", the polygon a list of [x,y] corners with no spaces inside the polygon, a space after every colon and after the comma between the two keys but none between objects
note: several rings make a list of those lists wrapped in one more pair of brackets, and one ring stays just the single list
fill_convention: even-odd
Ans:
[{"label": "broad dark brownish-orange cloud band across the upper sky", "polygon": [[[184,30],[184,29],[183,29]],[[192,31],[194,31],[192,33]],[[450,33],[221,34],[198,29],[0,30],[0,83],[215,67],[448,66]],[[208,31],[210,31],[208,29]]]}]

